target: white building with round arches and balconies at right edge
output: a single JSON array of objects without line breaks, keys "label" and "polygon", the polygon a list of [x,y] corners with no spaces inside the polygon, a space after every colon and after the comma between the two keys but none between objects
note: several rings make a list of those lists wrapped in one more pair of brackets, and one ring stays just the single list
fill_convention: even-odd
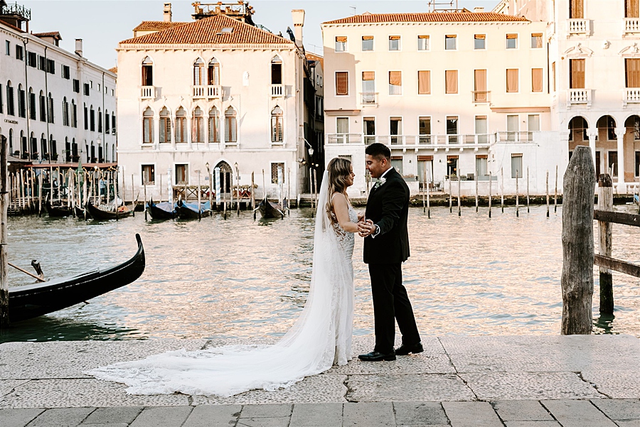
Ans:
[{"label": "white building with round arches and balconies at right edge", "polygon": [[[504,0],[506,13],[547,24],[553,129],[588,145],[618,193],[640,176],[639,0]],[[624,178],[623,178],[624,177]]]}]

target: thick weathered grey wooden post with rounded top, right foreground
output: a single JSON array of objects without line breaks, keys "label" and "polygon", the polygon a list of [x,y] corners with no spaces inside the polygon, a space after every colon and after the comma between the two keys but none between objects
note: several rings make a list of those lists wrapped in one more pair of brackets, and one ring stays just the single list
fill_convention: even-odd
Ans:
[{"label": "thick weathered grey wooden post with rounded top, right foreground", "polygon": [[591,150],[577,146],[564,177],[562,209],[562,335],[592,330],[593,193]]}]

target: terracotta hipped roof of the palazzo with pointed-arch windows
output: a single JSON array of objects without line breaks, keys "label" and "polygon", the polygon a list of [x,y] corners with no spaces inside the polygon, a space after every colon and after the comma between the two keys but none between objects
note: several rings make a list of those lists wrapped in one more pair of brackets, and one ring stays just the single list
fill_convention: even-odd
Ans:
[{"label": "terracotta hipped roof of the palazzo with pointed-arch windows", "polygon": [[[233,28],[230,33],[223,33],[223,28]],[[121,45],[127,44],[289,44],[294,43],[276,36],[269,31],[261,30],[248,23],[215,15],[200,19],[181,26],[168,28],[156,33],[146,34],[122,40]]]}]

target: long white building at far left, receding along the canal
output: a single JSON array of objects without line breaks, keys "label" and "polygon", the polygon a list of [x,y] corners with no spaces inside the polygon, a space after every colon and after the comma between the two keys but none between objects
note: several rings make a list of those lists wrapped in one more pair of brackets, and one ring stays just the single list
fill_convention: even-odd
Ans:
[{"label": "long white building at far left, receding along the canal", "polygon": [[80,39],[71,53],[57,31],[29,33],[30,17],[0,0],[0,134],[9,154],[68,167],[115,162],[116,75],[82,57]]}]

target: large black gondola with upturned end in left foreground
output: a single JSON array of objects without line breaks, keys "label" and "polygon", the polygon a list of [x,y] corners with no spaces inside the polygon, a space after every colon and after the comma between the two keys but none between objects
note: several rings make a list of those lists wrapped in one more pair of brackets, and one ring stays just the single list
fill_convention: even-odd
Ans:
[{"label": "large black gondola with upturned end in left foreground", "polygon": [[132,259],[109,269],[9,288],[9,320],[18,322],[73,306],[136,281],[144,271],[144,248],[136,234],[138,250]]}]

